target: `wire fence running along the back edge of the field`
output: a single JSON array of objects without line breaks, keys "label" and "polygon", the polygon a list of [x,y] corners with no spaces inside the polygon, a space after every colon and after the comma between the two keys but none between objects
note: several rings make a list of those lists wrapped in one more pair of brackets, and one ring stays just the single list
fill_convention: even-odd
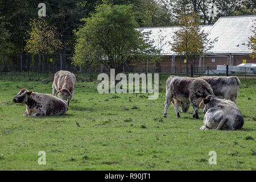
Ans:
[{"label": "wire fence running along the back edge of the field", "polygon": [[[59,70],[67,70],[73,73],[108,73],[108,68],[77,67],[72,64],[72,54],[0,54],[0,72],[35,72],[55,73]],[[163,56],[156,63],[144,61],[128,61],[123,67],[124,73],[154,72],[181,76],[238,76],[246,81],[256,81],[256,64],[253,66],[238,66],[247,62],[256,63],[248,55],[192,55],[188,60],[184,56]]]}]

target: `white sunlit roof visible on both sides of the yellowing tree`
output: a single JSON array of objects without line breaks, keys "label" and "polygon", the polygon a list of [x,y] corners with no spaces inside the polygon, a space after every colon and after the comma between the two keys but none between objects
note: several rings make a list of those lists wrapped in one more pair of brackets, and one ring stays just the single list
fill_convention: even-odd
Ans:
[{"label": "white sunlit roof visible on both sides of the yellowing tree", "polygon": [[[209,33],[208,39],[218,40],[209,53],[251,53],[251,50],[242,43],[247,43],[253,35],[251,28],[254,19],[256,15],[221,17],[213,26],[201,26],[201,30]],[[149,27],[137,30],[151,32],[150,40],[154,40],[153,46],[162,49],[160,54],[177,55],[171,51],[170,42],[173,42],[174,32],[178,28],[180,27]]]}]

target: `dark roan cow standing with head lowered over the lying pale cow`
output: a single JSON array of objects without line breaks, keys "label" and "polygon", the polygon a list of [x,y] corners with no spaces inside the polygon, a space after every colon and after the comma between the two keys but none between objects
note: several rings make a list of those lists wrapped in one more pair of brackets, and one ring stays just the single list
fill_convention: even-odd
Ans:
[{"label": "dark roan cow standing with head lowered over the lying pale cow", "polygon": [[203,98],[213,94],[210,85],[201,79],[191,77],[168,77],[166,81],[166,102],[164,102],[164,117],[172,100],[175,99],[176,117],[179,118],[179,105],[181,102],[191,102],[193,106],[193,118],[198,119],[199,104]]}]

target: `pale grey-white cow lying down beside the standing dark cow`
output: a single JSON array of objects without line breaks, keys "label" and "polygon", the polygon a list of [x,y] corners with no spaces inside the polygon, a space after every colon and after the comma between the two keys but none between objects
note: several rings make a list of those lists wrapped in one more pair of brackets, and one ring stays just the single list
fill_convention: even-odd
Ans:
[{"label": "pale grey-white cow lying down beside the standing dark cow", "polygon": [[243,126],[243,117],[237,105],[216,96],[203,99],[205,105],[204,126],[200,130],[238,130]]}]

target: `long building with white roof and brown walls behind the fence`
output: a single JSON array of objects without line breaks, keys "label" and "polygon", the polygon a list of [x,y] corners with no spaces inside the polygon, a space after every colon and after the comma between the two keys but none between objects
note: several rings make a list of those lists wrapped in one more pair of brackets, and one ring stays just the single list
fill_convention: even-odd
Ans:
[{"label": "long building with white roof and brown walls behind the fence", "polygon": [[[202,55],[192,55],[189,57],[189,72],[193,64],[194,72],[204,72],[207,68],[217,71],[217,65],[237,66],[241,63],[256,63],[256,59],[249,56],[252,52],[249,47],[243,45],[247,43],[250,36],[253,36],[253,25],[256,15],[251,16],[228,16],[221,17],[212,26],[201,26],[201,30],[208,32],[208,39],[217,38],[214,47],[209,52]],[[150,27],[138,28],[142,32],[151,32],[150,40],[154,41],[154,46],[160,49],[163,56],[159,63],[133,63],[129,64],[132,71],[160,71],[168,73],[182,73],[186,71],[184,56],[177,55],[171,51],[170,42],[174,36],[174,31],[180,27]]]}]

